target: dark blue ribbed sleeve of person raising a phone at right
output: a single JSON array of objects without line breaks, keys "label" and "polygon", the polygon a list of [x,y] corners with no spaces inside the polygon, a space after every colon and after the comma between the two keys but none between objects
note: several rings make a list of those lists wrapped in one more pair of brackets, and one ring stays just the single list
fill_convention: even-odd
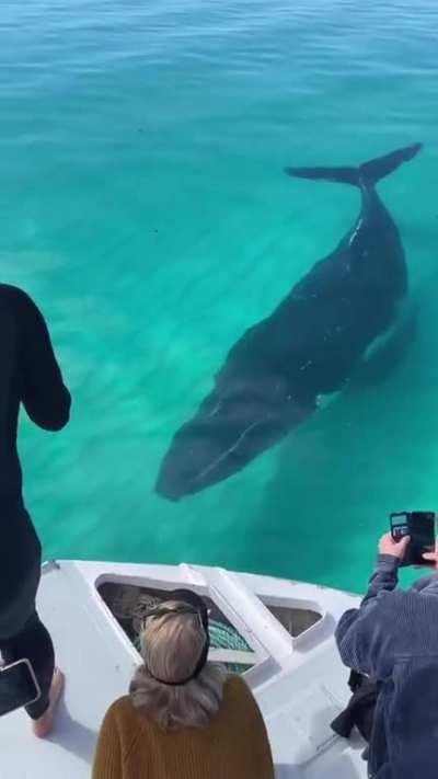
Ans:
[{"label": "dark blue ribbed sleeve of person raising a phone at right", "polygon": [[392,665],[388,616],[382,597],[395,588],[397,569],[396,558],[380,554],[360,608],[346,611],[336,628],[335,637],[343,663],[374,678],[384,677]]}]

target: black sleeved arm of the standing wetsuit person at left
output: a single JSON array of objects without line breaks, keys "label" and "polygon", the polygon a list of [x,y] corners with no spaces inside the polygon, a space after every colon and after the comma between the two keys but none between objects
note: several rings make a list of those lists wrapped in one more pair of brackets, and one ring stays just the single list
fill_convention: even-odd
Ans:
[{"label": "black sleeved arm of the standing wetsuit person at left", "polygon": [[36,425],[58,431],[69,421],[70,393],[62,381],[43,314],[25,293],[16,293],[22,401]]}]

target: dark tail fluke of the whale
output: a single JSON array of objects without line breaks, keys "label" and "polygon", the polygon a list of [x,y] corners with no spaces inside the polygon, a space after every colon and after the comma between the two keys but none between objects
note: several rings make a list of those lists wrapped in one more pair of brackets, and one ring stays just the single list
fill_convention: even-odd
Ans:
[{"label": "dark tail fluke of the whale", "polygon": [[334,181],[353,186],[373,186],[378,181],[395,171],[403,162],[412,160],[422,148],[423,144],[414,144],[365,162],[359,168],[285,168],[285,172],[298,179]]}]

